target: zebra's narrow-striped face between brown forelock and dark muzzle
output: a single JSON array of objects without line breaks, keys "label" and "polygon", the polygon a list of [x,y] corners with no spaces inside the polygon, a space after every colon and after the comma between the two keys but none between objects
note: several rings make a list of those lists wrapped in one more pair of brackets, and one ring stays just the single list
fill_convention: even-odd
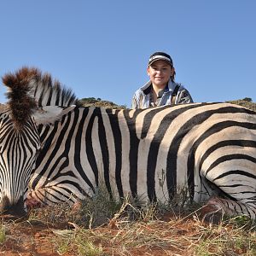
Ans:
[{"label": "zebra's narrow-striped face between brown forelock and dark muzzle", "polygon": [[41,143],[37,126],[28,119],[23,129],[17,130],[10,117],[10,111],[0,113],[0,212],[18,204],[18,212],[24,211],[25,192],[35,167],[35,150]]}]

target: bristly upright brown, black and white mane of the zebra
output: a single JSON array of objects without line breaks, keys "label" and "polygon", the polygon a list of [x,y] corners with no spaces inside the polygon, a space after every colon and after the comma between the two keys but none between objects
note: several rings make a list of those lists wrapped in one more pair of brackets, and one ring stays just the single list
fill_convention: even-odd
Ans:
[{"label": "bristly upright brown, black and white mane of the zebra", "polygon": [[81,106],[72,90],[51,78],[49,73],[41,73],[35,67],[22,67],[15,73],[7,73],[2,78],[9,90],[9,108],[15,126],[26,123],[33,109],[45,106]]}]

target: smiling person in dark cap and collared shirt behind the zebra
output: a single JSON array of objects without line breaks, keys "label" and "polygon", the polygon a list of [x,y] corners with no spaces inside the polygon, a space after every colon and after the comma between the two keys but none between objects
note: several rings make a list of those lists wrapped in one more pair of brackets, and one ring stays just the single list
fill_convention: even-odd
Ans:
[{"label": "smiling person in dark cap and collared shirt behind the zebra", "polygon": [[151,55],[147,73],[150,80],[135,92],[131,108],[193,102],[189,91],[174,80],[176,73],[170,55],[164,52],[155,52]]}]

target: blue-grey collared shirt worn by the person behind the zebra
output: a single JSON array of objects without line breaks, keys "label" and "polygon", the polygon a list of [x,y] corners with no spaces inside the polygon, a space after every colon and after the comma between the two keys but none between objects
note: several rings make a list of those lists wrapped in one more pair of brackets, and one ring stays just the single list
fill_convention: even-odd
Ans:
[{"label": "blue-grey collared shirt worn by the person behind the zebra", "polygon": [[[171,105],[172,103],[172,94],[176,86],[179,86],[177,90],[177,96],[175,98],[174,104],[179,103],[190,103],[193,102],[192,97],[189,94],[189,91],[186,90],[182,84],[177,84],[171,79],[169,80],[166,88],[163,91],[160,91],[160,98],[156,102],[156,106]],[[131,108],[149,108],[152,107],[152,84],[151,81],[144,84],[139,90],[137,90],[132,98]]]}]

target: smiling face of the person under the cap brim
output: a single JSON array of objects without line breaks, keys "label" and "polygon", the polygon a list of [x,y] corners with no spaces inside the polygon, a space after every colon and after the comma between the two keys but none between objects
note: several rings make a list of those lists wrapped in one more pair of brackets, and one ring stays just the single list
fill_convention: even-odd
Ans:
[{"label": "smiling face of the person under the cap brim", "polygon": [[166,61],[154,61],[147,69],[151,82],[159,88],[164,88],[174,73],[174,68]]}]

